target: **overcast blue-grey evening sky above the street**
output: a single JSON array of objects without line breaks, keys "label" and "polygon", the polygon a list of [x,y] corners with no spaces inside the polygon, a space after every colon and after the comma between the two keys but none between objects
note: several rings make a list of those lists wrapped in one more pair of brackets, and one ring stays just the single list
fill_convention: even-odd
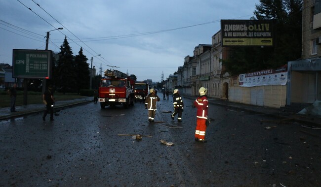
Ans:
[{"label": "overcast blue-grey evening sky above the street", "polygon": [[[99,73],[110,66],[137,80],[166,80],[211,44],[222,19],[249,19],[259,0],[0,0],[0,63],[12,65],[12,49],[59,52],[65,35]],[[37,5],[39,4],[39,5]],[[31,10],[30,10],[30,9]],[[63,30],[51,31],[63,27]],[[89,64],[90,66],[90,64]]]}]

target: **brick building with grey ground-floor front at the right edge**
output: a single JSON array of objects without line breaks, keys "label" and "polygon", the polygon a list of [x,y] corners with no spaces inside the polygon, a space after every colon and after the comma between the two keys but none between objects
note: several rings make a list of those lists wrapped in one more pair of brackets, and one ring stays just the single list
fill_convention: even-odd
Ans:
[{"label": "brick building with grey ground-floor front at the right edge", "polygon": [[302,59],[288,62],[286,105],[321,100],[321,3],[303,0]]}]

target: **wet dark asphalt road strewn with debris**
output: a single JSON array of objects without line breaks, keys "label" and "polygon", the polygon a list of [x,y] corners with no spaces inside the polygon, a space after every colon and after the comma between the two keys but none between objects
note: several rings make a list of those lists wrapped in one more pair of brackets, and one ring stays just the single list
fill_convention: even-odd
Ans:
[{"label": "wet dark asphalt road strewn with debris", "polygon": [[199,143],[196,109],[183,99],[182,123],[162,112],[173,111],[171,99],[158,102],[154,124],[139,102],[0,121],[0,187],[321,186],[321,129],[210,105],[215,121]]}]

